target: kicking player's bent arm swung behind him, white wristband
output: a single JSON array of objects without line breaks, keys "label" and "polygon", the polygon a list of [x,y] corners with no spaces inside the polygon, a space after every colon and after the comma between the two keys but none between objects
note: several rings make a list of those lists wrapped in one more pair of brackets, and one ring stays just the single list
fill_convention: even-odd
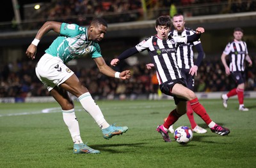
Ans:
[{"label": "kicking player's bent arm swung behind him, white wristband", "polygon": [[31,45],[28,46],[28,49],[26,51],[27,57],[29,57],[29,59],[35,59],[36,47],[40,42],[40,40],[42,39],[42,37],[51,30],[54,32],[60,33],[60,27],[61,27],[60,22],[53,22],[53,21],[45,22],[45,24],[42,25],[42,27],[37,32],[36,37],[32,41]]}]

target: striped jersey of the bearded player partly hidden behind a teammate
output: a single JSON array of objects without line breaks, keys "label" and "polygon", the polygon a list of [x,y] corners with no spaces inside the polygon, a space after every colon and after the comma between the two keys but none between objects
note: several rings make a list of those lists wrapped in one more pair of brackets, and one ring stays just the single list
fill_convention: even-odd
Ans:
[{"label": "striped jersey of the bearded player partly hidden behind a teammate", "polygon": [[[177,32],[176,30],[173,30],[172,32],[170,32],[170,34],[173,37],[184,37],[195,34],[195,31],[189,28],[185,28],[182,32]],[[179,45],[177,47],[177,64],[180,69],[190,69],[194,66],[194,53],[192,47],[198,45],[199,43],[201,43],[200,39],[198,39],[198,41],[194,41],[193,43],[183,43],[182,45]]]}]

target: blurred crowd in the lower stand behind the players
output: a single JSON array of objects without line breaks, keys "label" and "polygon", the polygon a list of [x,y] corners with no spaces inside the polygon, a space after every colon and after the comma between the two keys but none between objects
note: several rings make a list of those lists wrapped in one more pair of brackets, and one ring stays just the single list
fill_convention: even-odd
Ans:
[{"label": "blurred crowd in the lower stand behind the players", "polygon": [[[129,68],[132,72],[132,78],[127,81],[108,78],[100,74],[96,66],[90,69],[74,68],[72,70],[97,99],[114,99],[115,97],[136,99],[138,95],[148,96],[156,92],[152,83],[155,71],[148,70],[145,67],[146,63],[148,62],[141,62],[130,68],[128,64],[122,64],[119,67],[120,70]],[[0,97],[48,96],[49,92],[36,78],[35,66],[36,62],[32,60],[5,64],[0,71]],[[248,68],[245,90],[256,90],[255,71],[253,68]],[[204,60],[195,77],[195,92],[230,90],[234,88],[235,83],[232,83],[229,78],[230,76],[225,75],[220,59]]]}]

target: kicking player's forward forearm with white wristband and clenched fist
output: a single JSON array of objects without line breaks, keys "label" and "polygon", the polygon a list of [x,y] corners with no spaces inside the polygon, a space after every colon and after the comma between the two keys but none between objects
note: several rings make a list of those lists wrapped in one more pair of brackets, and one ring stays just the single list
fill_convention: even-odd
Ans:
[{"label": "kicking player's forward forearm with white wristband and clenched fist", "polygon": [[129,70],[122,71],[121,73],[116,72],[106,64],[105,60],[102,57],[98,57],[93,60],[96,62],[97,67],[102,74],[113,78],[120,78],[121,80],[127,80],[131,78],[131,72]]}]

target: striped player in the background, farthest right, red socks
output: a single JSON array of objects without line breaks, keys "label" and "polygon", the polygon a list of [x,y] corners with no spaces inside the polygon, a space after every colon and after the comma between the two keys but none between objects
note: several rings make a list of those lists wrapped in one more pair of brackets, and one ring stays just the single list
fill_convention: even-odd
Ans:
[{"label": "striped player in the background, farthest right, red socks", "polygon": [[[227,94],[221,95],[223,106],[227,108],[228,98],[237,95],[239,101],[239,110],[248,111],[244,107],[244,83],[246,81],[246,74],[244,73],[244,60],[248,62],[248,66],[252,66],[252,60],[248,55],[247,45],[243,38],[243,29],[236,27],[234,29],[234,40],[227,44],[225,50],[221,55],[221,61],[225,67],[225,73],[232,76],[236,82],[237,87],[230,90]],[[230,64],[228,66],[226,57],[229,55]]]}]

